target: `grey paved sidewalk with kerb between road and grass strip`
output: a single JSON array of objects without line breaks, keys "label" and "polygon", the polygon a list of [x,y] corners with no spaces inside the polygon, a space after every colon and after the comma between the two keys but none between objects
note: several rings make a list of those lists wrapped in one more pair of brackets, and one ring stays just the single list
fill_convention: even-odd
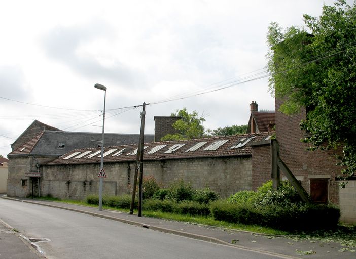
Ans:
[{"label": "grey paved sidewalk with kerb between road and grass strip", "polygon": [[345,247],[341,246],[339,243],[321,243],[317,240],[296,240],[293,239],[293,237],[267,236],[251,232],[194,225],[163,219],[137,217],[137,215],[130,215],[128,213],[122,213],[114,210],[99,211],[98,208],[60,202],[14,199],[6,196],[3,196],[2,198],[67,209],[79,213],[86,213],[95,217],[115,220],[138,227],[149,228],[152,230],[162,231],[179,236],[234,246],[246,250],[260,251],[263,253],[275,255],[276,257],[280,258],[356,258],[356,253],[354,252],[340,252],[339,250]]}]

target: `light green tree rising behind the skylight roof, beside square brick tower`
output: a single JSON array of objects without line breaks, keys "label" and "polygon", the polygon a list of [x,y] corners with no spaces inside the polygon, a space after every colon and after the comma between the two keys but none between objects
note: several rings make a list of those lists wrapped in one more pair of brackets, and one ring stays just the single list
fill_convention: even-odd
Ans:
[{"label": "light green tree rising behind the skylight roof, beside square brick tower", "polygon": [[199,116],[198,112],[193,111],[188,113],[186,108],[176,110],[170,115],[172,117],[181,117],[181,119],[173,123],[173,128],[178,130],[177,134],[167,134],[161,138],[161,141],[166,140],[188,140],[196,139],[204,136],[203,122],[205,118],[203,115]]}]

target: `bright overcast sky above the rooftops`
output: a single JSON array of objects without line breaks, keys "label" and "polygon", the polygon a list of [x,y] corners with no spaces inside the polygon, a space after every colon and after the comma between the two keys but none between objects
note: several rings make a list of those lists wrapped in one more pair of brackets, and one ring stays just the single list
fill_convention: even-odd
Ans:
[{"label": "bright overcast sky above the rooftops", "polygon": [[[74,132],[145,133],[187,108],[204,127],[247,124],[250,103],[274,110],[266,34],[302,26],[334,0],[2,1],[0,154],[35,120]],[[348,1],[348,3],[353,3]]]}]

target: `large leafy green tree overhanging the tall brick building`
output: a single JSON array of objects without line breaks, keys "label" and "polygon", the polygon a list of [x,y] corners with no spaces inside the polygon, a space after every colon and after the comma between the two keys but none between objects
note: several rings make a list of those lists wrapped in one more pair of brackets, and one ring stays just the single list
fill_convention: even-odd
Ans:
[{"label": "large leafy green tree overhanging the tall brick building", "polygon": [[287,114],[307,110],[301,128],[311,149],[342,146],[340,164],[356,169],[356,7],[339,0],[320,17],[304,15],[306,28],[268,32],[269,87]]}]

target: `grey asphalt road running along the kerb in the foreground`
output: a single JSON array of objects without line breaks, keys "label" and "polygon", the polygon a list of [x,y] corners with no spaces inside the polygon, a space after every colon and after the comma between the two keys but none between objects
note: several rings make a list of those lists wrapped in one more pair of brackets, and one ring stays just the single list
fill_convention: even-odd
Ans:
[{"label": "grey asphalt road running along the kerb in the foreground", "polygon": [[277,258],[91,215],[0,199],[0,219],[37,243],[48,258]]}]

